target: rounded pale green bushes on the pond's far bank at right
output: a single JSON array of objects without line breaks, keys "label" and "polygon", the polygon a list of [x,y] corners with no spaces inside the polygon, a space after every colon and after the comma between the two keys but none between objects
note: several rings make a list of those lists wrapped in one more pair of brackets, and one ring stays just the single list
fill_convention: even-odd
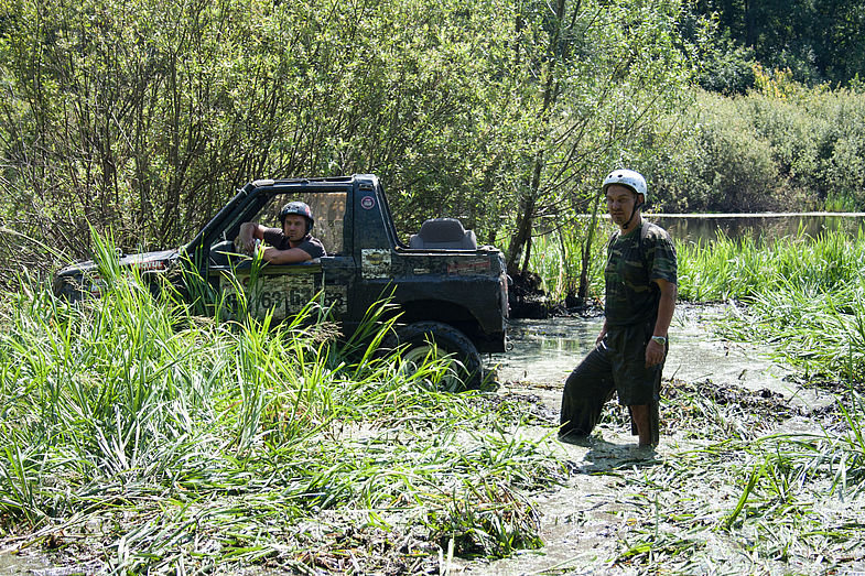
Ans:
[{"label": "rounded pale green bushes on the pond's far bank at right", "polygon": [[[759,72],[759,70],[758,70]],[[661,209],[801,211],[865,206],[865,94],[763,74],[759,91],[699,93],[651,176]]]}]

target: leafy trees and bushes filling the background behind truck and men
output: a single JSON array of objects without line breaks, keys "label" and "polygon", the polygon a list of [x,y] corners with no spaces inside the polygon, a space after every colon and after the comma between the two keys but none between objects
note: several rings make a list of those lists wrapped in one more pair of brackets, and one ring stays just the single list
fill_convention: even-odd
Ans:
[{"label": "leafy trees and bushes filling the background behind truck and men", "polygon": [[666,210],[862,206],[857,52],[763,61],[793,36],[727,4],[0,2],[0,275],[88,225],[177,244],[260,177],[377,173],[404,233],[457,216],[513,271],[616,166]]}]

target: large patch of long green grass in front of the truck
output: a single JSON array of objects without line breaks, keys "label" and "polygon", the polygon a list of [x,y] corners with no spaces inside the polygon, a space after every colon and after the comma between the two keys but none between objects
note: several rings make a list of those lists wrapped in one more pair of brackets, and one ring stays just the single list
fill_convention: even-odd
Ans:
[{"label": "large patch of long green grass in front of the truck", "polygon": [[6,296],[0,547],[72,546],[117,573],[376,572],[539,544],[526,496],[563,472],[505,439],[525,411],[440,392],[446,362],[409,374],[322,339],[314,304],[216,323],[100,259],[99,300]]}]

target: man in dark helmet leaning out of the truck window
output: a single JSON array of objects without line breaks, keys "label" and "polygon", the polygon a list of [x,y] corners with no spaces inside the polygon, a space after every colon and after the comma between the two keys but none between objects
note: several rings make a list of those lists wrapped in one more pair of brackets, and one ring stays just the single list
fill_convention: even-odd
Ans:
[{"label": "man in dark helmet leaning out of the truck window", "polygon": [[[282,229],[266,228],[257,222],[244,222],[235,242],[238,250],[252,256],[263,250],[261,258],[271,264],[298,264],[325,254],[324,244],[310,232],[315,224],[310,207],[302,202],[290,202],[279,213]],[[263,240],[270,246],[261,248]]]}]

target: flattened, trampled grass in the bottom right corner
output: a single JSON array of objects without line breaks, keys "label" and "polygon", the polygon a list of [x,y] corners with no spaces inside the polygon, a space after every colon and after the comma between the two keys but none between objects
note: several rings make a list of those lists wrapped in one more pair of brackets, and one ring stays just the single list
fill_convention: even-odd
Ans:
[{"label": "flattened, trampled grass in the bottom right corner", "polygon": [[702,431],[696,447],[627,475],[625,513],[636,515],[620,534],[616,565],[672,574],[862,568],[865,410],[858,393],[839,399],[842,419],[814,414],[813,432],[796,434],[731,427],[738,406],[702,394],[690,402],[701,407],[685,411],[677,425]]}]

